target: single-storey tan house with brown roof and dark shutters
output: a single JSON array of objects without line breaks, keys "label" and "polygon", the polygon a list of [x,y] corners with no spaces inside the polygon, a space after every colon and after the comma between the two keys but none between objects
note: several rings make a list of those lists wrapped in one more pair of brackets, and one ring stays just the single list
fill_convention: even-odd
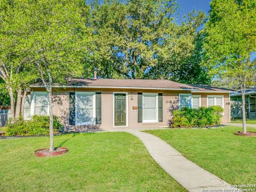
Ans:
[{"label": "single-storey tan house with brown roof and dark shutters", "polygon": [[[222,106],[222,122],[230,122],[230,90],[167,80],[70,78],[53,86],[53,114],[66,129],[108,130],[115,127],[168,126],[172,111],[182,107]],[[24,115],[49,114],[42,84],[30,87]]]}]

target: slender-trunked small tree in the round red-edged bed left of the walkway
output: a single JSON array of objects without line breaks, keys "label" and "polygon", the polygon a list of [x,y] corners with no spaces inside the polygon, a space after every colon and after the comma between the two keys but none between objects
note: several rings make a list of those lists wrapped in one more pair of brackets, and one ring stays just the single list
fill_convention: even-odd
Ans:
[{"label": "slender-trunked small tree in the round red-edged bed left of the walkway", "polygon": [[26,14],[30,17],[31,34],[27,43],[29,55],[49,93],[50,152],[53,151],[52,87],[65,85],[65,77],[79,75],[81,60],[89,42],[86,28],[88,7],[83,0],[30,1]]}]

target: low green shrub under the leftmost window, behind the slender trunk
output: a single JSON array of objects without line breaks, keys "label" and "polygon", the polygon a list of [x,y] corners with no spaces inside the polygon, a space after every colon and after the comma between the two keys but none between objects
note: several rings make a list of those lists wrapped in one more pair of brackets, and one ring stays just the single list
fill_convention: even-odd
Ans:
[{"label": "low green shrub under the leftmost window, behind the slender trunk", "polygon": [[[34,115],[31,120],[24,121],[17,119],[15,122],[7,123],[7,136],[30,136],[30,135],[49,135],[49,116]],[[62,125],[58,121],[58,117],[53,118],[53,131],[56,133]]]}]

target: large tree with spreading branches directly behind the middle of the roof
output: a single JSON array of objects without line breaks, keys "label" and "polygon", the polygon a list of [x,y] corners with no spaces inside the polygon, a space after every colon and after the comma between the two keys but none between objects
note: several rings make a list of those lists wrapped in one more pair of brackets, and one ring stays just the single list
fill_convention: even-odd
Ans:
[{"label": "large tree with spreading branches directly behind the middle of the roof", "polygon": [[143,78],[157,64],[164,39],[176,30],[176,10],[172,0],[94,1],[91,26],[99,74]]}]

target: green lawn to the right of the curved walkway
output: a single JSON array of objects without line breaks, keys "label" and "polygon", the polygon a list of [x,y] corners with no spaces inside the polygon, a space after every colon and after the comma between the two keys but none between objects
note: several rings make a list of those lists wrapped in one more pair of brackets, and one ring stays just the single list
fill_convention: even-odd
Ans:
[{"label": "green lawn to the right of the curved walkway", "polygon": [[145,132],[170,143],[185,157],[232,185],[256,184],[256,138],[233,134],[241,129],[227,126]]}]

